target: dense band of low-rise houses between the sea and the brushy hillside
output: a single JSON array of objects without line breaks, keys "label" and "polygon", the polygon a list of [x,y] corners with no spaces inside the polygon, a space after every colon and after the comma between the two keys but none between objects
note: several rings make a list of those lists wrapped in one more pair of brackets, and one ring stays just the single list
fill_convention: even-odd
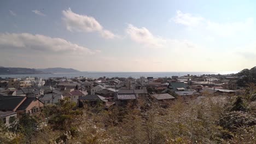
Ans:
[{"label": "dense band of low-rise houses between the sea and the brushy hillside", "polygon": [[128,101],[152,99],[155,103],[171,103],[178,96],[184,99],[198,95],[234,95],[237,89],[236,76],[172,76],[172,77],[132,77],[111,79],[100,77],[52,77],[42,80],[37,77],[1,79],[0,110],[1,119],[9,125],[13,117],[22,113],[38,113],[44,105],[57,104],[68,98],[77,106],[84,101],[104,106],[125,105]]}]

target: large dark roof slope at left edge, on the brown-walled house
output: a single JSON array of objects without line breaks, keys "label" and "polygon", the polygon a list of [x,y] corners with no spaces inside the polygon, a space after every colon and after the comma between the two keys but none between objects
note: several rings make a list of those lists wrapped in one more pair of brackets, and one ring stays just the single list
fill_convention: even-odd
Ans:
[{"label": "large dark roof slope at left edge, on the brown-walled house", "polygon": [[26,97],[0,95],[0,110],[14,110],[24,99]]}]

